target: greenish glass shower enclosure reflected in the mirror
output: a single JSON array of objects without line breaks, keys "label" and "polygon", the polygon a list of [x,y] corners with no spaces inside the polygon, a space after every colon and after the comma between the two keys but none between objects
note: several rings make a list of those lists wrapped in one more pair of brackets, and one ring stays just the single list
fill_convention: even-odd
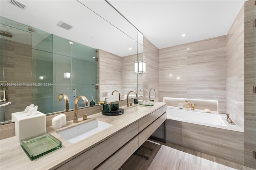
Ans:
[{"label": "greenish glass shower enclosure reflected in the mirror", "polygon": [[96,49],[3,17],[0,22],[1,104],[11,102],[0,107],[1,123],[30,104],[42,113],[64,111],[60,94],[68,96],[69,109],[79,95],[97,101]]}]

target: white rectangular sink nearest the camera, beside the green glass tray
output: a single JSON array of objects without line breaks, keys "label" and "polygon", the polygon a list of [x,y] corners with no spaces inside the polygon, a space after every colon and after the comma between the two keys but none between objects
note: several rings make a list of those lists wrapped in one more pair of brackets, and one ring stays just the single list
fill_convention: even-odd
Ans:
[{"label": "white rectangular sink nearest the camera, beside the green glass tray", "polygon": [[92,120],[86,123],[65,129],[57,132],[61,137],[69,141],[70,143],[77,143],[90,137],[108,127],[112,126],[110,123],[104,121]]}]

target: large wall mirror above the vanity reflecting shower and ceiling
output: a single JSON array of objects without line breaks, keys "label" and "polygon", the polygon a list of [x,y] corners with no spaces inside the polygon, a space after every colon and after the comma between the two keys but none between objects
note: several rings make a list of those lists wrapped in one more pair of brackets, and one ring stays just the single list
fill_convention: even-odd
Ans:
[{"label": "large wall mirror above the vanity reflecting shower and ceiling", "polygon": [[[0,2],[1,105],[12,103],[0,107],[1,124],[30,104],[46,114],[63,112],[63,93],[73,109],[79,95],[97,104],[119,100],[114,90],[124,100],[142,88],[134,61],[142,60],[143,35],[106,1],[19,2],[26,8]],[[74,27],[58,26],[62,21]]]}]

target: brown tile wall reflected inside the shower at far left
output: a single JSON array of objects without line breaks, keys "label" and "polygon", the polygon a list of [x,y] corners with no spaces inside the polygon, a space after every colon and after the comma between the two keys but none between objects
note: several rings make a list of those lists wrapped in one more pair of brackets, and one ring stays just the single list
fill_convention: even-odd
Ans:
[{"label": "brown tile wall reflected inside the shower at far left", "polygon": [[[1,80],[7,83],[33,83],[34,80],[31,77],[31,73],[34,72],[32,65],[34,60],[32,59],[31,45],[24,43],[18,43],[1,38],[1,55],[3,59],[3,77]],[[1,107],[1,121],[11,120],[11,114],[14,112],[22,111],[21,107],[30,105],[32,100],[32,86],[6,86],[8,88],[8,102],[11,105]],[[2,115],[4,113],[4,115]],[[4,117],[4,120],[2,119]]]}]

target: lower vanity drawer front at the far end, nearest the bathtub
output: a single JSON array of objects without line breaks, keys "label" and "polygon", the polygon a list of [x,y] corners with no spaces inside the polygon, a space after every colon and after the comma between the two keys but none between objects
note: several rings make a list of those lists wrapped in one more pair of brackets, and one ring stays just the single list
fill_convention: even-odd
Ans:
[{"label": "lower vanity drawer front at the far end, nearest the bathtub", "polygon": [[161,117],[156,119],[151,125],[149,125],[146,129],[139,133],[139,147],[156,131],[156,129],[162,125],[162,123],[166,120],[167,113],[165,112]]}]

